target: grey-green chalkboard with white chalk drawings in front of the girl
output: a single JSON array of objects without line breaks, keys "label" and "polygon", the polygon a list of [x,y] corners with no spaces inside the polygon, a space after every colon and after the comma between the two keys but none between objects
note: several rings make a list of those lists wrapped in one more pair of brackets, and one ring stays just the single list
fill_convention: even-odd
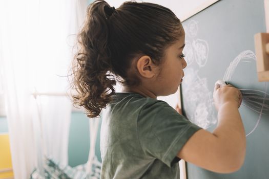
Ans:
[{"label": "grey-green chalkboard with white chalk drawings in front of the girl", "polygon": [[[242,168],[220,174],[187,163],[188,178],[269,178],[269,83],[258,82],[254,47],[254,34],[266,32],[263,0],[221,0],[182,24],[188,63],[181,84],[185,116],[214,130],[217,111],[212,95],[218,79],[244,89],[245,95],[253,93],[239,108],[247,136]],[[255,101],[257,96],[261,100]]]}]

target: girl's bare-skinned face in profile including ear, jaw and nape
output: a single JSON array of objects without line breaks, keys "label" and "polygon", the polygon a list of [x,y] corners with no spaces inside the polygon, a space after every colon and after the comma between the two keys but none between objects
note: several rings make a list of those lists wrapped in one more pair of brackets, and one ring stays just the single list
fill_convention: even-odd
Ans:
[{"label": "girl's bare-skinned face in profile including ear, jaw and nape", "polygon": [[141,84],[136,87],[126,86],[123,92],[136,92],[151,98],[176,93],[184,76],[183,69],[187,66],[182,54],[184,46],[185,32],[182,28],[180,39],[165,50],[161,64],[154,64],[147,55],[134,60],[130,74],[137,74]]}]

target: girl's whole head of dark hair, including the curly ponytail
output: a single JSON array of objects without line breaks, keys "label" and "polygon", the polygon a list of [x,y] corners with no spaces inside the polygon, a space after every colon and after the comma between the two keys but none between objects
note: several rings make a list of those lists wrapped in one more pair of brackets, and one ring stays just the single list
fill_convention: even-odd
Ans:
[{"label": "girl's whole head of dark hair, including the curly ponytail", "polygon": [[159,65],[181,30],[176,15],[157,4],[130,1],[113,12],[104,0],[91,3],[77,35],[79,50],[72,68],[72,87],[77,92],[72,96],[74,104],[83,106],[90,118],[99,116],[115,94],[116,80],[120,78],[129,87],[139,84],[139,78],[128,73],[131,62],[148,55]]}]

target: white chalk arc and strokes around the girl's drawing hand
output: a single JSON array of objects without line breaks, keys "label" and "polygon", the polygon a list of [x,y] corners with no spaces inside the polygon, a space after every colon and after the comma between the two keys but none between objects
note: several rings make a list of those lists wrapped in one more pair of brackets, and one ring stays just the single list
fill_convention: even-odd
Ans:
[{"label": "white chalk arc and strokes around the girl's drawing hand", "polygon": [[[240,53],[229,65],[229,67],[226,69],[226,72],[223,77],[223,81],[230,82],[232,75],[235,72],[235,69],[239,62],[250,62],[250,60],[256,61],[256,55],[251,50],[246,50]],[[251,110],[255,111],[259,114],[259,118],[254,126],[254,128],[247,133],[246,137],[251,135],[255,131],[255,129],[258,127],[258,124],[260,123],[260,120],[262,118],[262,115],[269,114],[269,105],[268,105],[268,97],[269,94],[267,94],[267,83],[264,82],[265,85],[265,91],[260,91],[256,89],[240,89],[243,101],[242,105],[250,108]]]}]

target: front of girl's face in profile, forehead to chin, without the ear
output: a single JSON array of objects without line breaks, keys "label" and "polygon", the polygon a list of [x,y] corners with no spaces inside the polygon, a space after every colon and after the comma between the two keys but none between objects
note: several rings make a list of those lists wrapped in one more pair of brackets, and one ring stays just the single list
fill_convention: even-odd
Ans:
[{"label": "front of girl's face in profile, forehead to chin, without the ear", "polygon": [[184,76],[183,69],[187,66],[182,54],[185,46],[185,32],[172,46],[165,51],[164,62],[160,66],[160,74],[157,77],[157,96],[167,96],[176,93]]}]

